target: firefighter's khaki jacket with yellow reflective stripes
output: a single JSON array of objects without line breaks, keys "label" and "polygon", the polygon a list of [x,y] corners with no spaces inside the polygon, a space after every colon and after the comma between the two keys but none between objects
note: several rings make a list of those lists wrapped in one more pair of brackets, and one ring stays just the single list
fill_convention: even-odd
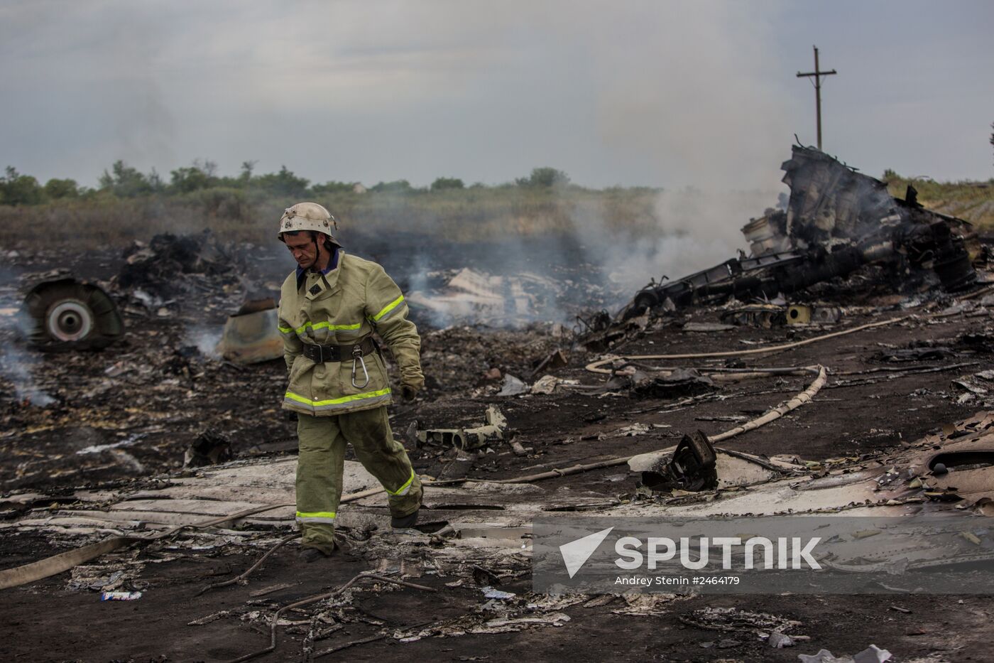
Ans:
[{"label": "firefighter's khaki jacket with yellow reflective stripes", "polygon": [[343,347],[341,361],[315,363],[303,354],[303,343],[352,346],[377,331],[394,354],[401,383],[414,389],[424,383],[421,341],[408,320],[401,289],[380,265],[346,255],[342,248],[332,264],[335,268],[327,274],[308,270],[299,281],[296,273],[290,274],[279,298],[279,331],[289,371],[283,408],[315,416],[389,405],[390,382],[379,351],[361,362]]}]

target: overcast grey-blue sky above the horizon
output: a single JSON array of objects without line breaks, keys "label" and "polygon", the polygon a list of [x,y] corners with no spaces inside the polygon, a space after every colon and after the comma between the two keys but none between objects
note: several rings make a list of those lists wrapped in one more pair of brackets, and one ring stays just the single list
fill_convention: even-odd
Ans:
[{"label": "overcast grey-blue sky above the horizon", "polygon": [[988,0],[0,0],[0,167],[775,187],[817,45],[826,151],[987,179],[992,34]]}]

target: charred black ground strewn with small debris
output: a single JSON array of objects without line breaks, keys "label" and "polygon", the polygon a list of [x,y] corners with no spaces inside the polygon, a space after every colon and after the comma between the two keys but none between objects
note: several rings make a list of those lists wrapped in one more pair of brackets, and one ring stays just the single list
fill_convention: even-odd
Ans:
[{"label": "charred black ground strewn with small debris", "polygon": [[[95,278],[106,279],[114,272],[114,262],[110,257],[80,267],[83,271],[92,269]],[[25,270],[44,263],[45,257],[33,259]],[[888,452],[900,450],[903,443],[987,406],[983,394],[970,393],[952,382],[994,368],[994,336],[990,335],[994,322],[986,310],[926,318],[951,302],[904,310],[898,304],[905,298],[873,290],[840,293],[840,304],[850,309],[842,323],[832,328],[684,331],[681,326],[689,321],[718,321],[716,311],[697,311],[657,320],[611,351],[655,354],[750,349],[886,317],[909,316],[885,328],[779,353],[741,357],[738,365],[820,363],[830,369],[827,385],[812,403],[722,445],[766,456],[791,455],[801,460],[863,454],[886,457]],[[197,309],[180,307],[162,316],[122,298],[119,302],[124,305],[128,337],[100,352],[37,355],[17,345],[12,332],[4,331],[8,356],[19,348],[27,374],[35,380],[35,391],[26,391],[23,383],[15,388],[9,378],[0,382],[0,490],[45,490],[70,499],[68,496],[81,487],[113,486],[136,477],[177,471],[186,447],[206,429],[227,435],[242,457],[293,453],[293,423],[278,410],[284,374],[281,361],[236,367],[201,353],[178,351],[187,344],[191,328],[218,325],[225,310],[237,308],[239,297],[237,292],[205,292],[196,300],[201,304]],[[737,421],[752,418],[801,391],[810,381],[809,377],[787,376],[731,383],[681,406],[677,403],[682,394],[640,396],[626,390],[597,395],[561,387],[551,395],[499,397],[495,394],[500,380],[485,376],[488,369],[498,368],[527,378],[534,359],[562,346],[569,351],[570,365],[551,372],[580,380],[581,385],[601,386],[603,376],[583,369],[598,355],[570,350],[570,345],[569,337],[554,335],[549,326],[526,331],[456,328],[425,332],[423,354],[429,388],[414,403],[398,403],[392,408],[395,433],[403,437],[414,419],[422,428],[475,425],[482,422],[488,404],[498,404],[528,455],[517,456],[505,446],[495,453],[459,458],[453,450],[409,445],[415,469],[440,478],[510,478],[650,451],[675,444],[687,431],[715,434],[727,430],[736,422],[715,420],[717,417]],[[941,348],[936,355],[940,358],[894,361],[884,356],[922,347]],[[913,352],[902,358],[909,358],[908,354]],[[724,365],[714,361],[680,363]],[[969,365],[949,368],[956,364]],[[938,370],[914,372],[931,368]],[[980,378],[968,381],[983,388]],[[38,390],[54,401],[40,406]],[[635,423],[649,425],[647,432],[636,436],[620,432]],[[80,453],[92,447],[96,449]],[[627,467],[619,466],[552,479],[544,487],[634,499],[636,485]],[[8,509],[4,517],[20,513]],[[59,542],[37,534],[5,532],[0,540],[3,567],[62,550]],[[248,600],[263,600],[249,596],[250,591],[261,587],[290,584],[264,596],[272,603],[260,609],[330,590],[370,567],[367,560],[353,554],[302,565],[293,552],[292,548],[277,552],[248,585],[196,597],[204,584],[248,568],[260,551],[142,552],[150,559],[159,555],[162,560],[144,566],[138,578],[140,585],[135,586],[143,587],[145,595],[133,602],[100,602],[92,591],[69,590],[66,574],[4,590],[0,627],[3,660],[236,658],[263,647],[267,633],[257,632],[253,622],[237,618],[196,627],[188,622],[219,610],[244,608]],[[479,606],[476,587],[449,587],[446,578],[436,576],[412,580],[439,592],[401,589],[359,593],[349,608],[351,617],[342,622],[343,628],[319,641],[318,648],[375,636],[384,625],[404,630]],[[528,591],[530,582],[526,574],[505,581],[501,588],[520,596]],[[810,636],[810,641],[775,650],[754,633],[724,632],[681,621],[705,606],[735,606],[795,619],[802,622],[799,632]],[[453,661],[565,657],[584,661],[795,661],[798,653],[814,654],[825,648],[836,655],[853,655],[875,643],[890,650],[895,661],[994,660],[988,644],[994,601],[980,595],[698,595],[675,600],[655,615],[615,614],[614,607],[611,603],[567,607],[564,612],[571,620],[559,627],[429,637],[411,643],[387,637],[355,644],[341,655],[381,661],[413,657]],[[301,614],[296,619],[306,619]],[[259,660],[297,656],[301,628],[306,627],[280,627],[276,652]]]}]

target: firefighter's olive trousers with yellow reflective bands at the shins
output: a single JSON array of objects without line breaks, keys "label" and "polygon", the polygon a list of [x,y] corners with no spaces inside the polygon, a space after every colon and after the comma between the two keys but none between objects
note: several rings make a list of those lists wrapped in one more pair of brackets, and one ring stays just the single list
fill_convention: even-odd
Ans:
[{"label": "firefighter's olive trousers with yellow reflective bands at the shins", "polygon": [[301,545],[330,554],[342,497],[345,445],[389,496],[394,517],[409,516],[421,503],[421,482],[404,446],[394,439],[387,407],[337,416],[297,416],[297,522]]}]

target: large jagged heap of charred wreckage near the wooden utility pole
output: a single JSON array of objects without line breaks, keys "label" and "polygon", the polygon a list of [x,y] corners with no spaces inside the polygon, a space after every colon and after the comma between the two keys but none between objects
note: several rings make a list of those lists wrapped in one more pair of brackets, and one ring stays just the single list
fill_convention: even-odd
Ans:
[{"label": "large jagged heap of charred wreckage near the wooden utility pole", "polygon": [[771,300],[868,265],[880,266],[896,291],[939,285],[956,292],[976,281],[979,244],[970,224],[924,209],[913,187],[904,200],[892,197],[884,182],[811,147],[795,145],[781,168],[790,187],[787,209],[743,228],[751,256],[670,283],[653,281],[621,317],[731,298]]}]

